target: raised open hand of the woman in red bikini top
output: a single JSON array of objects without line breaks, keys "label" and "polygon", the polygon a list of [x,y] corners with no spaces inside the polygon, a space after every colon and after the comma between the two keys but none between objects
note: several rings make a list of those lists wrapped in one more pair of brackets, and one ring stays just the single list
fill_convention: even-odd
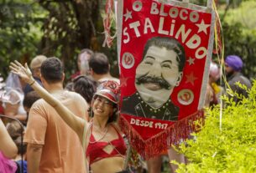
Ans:
[{"label": "raised open hand of the woman in red bikini top", "polygon": [[12,69],[13,74],[18,74],[18,76],[27,84],[34,83],[34,79],[32,76],[32,73],[28,67],[28,64],[25,64],[25,67],[18,63],[18,61],[14,61],[14,63],[11,63],[9,66],[10,69]]}]

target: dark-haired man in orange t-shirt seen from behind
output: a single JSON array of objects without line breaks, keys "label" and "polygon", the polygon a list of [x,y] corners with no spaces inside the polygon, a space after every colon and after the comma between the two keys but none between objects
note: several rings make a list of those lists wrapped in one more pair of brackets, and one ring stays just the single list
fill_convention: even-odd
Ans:
[{"label": "dark-haired man in orange t-shirt seen from behind", "polygon": [[[63,89],[64,76],[60,59],[50,58],[41,65],[44,88],[60,99],[74,114],[86,119],[86,100],[80,94]],[[36,101],[29,111],[24,142],[28,143],[29,173],[86,171],[80,139],[44,99]]]}]

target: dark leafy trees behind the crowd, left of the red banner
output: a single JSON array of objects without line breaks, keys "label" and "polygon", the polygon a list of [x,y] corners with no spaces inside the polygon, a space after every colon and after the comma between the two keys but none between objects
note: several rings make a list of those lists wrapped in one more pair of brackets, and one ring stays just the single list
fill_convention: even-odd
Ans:
[{"label": "dark leafy trees behind the crowd, left of the red banner", "polygon": [[99,50],[103,37],[99,0],[5,0],[0,3],[0,66],[8,74],[14,59],[29,62],[36,54],[62,59],[67,74],[82,48]]}]

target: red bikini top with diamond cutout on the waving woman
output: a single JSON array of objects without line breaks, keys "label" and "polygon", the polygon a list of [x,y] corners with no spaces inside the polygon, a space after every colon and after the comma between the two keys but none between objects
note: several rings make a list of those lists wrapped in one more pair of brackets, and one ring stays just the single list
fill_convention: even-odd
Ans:
[{"label": "red bikini top with diamond cutout on the waving woman", "polygon": [[[112,125],[112,127],[118,132],[118,130]],[[92,131],[92,125],[91,125],[91,131]],[[94,142],[96,141],[94,136],[91,133],[90,141]],[[110,154],[108,154],[103,149],[110,144],[115,147]],[[111,140],[108,142],[105,141],[98,141],[96,143],[90,143],[87,146],[86,149],[86,157],[89,157],[90,165],[98,160],[102,160],[107,157],[117,156],[117,155],[125,155],[126,154],[126,145],[124,144],[123,137],[118,132],[118,139],[117,140]]]}]

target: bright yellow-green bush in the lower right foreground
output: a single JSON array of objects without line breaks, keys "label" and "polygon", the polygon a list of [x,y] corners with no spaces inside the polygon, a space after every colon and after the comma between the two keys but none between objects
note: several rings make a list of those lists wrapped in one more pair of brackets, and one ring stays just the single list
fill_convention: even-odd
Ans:
[{"label": "bright yellow-green bush in the lower right foreground", "polygon": [[256,172],[256,81],[248,93],[238,105],[223,98],[228,106],[222,122],[220,107],[206,111],[205,125],[193,134],[196,140],[180,145],[190,163],[180,164],[177,172]]}]

